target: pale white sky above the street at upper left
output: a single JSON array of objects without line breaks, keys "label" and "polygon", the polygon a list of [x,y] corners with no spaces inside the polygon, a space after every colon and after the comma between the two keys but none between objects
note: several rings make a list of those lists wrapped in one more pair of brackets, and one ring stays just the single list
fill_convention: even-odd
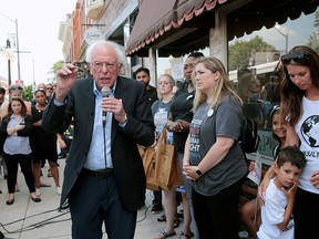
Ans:
[{"label": "pale white sky above the street at upper left", "polygon": [[[18,20],[20,76],[24,85],[48,82],[48,72],[63,60],[62,42],[58,39],[60,22],[75,9],[76,0],[0,0],[0,48],[8,34],[16,34]],[[7,15],[8,18],[3,17]],[[25,52],[25,53],[23,53]],[[8,62],[0,56],[0,76],[8,77]],[[18,80],[18,61],[11,62],[11,81]]]}]

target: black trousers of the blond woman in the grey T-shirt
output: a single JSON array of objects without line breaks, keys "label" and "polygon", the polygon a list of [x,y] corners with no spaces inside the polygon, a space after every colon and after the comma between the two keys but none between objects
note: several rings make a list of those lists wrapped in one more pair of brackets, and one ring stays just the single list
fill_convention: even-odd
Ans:
[{"label": "black trousers of the blond woman in the grey T-shirt", "polygon": [[200,239],[238,239],[238,202],[243,180],[214,196],[192,190],[195,220]]}]

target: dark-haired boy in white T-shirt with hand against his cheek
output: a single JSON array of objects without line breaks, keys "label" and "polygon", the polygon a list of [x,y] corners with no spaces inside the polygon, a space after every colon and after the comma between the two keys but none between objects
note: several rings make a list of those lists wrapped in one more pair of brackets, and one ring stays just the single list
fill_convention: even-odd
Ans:
[{"label": "dark-haired boy in white T-shirt with hand against his cheek", "polygon": [[287,146],[279,150],[274,164],[276,177],[270,179],[261,206],[258,239],[294,238],[292,209],[299,175],[305,166],[305,155],[298,147]]}]

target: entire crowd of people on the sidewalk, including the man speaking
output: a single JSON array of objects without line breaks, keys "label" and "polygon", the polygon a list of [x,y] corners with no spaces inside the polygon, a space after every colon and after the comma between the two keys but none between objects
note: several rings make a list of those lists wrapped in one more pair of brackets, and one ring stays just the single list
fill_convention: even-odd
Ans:
[{"label": "entire crowd of people on the sidewalk, including the man speaking", "polygon": [[[102,238],[104,224],[109,238],[132,239],[146,193],[137,145],[154,147],[166,128],[184,184],[171,191],[153,191],[151,212],[164,209],[157,220],[166,221],[154,239],[176,235],[179,202],[184,221],[178,238],[239,238],[243,183],[255,167],[250,163],[248,170],[239,144],[243,118],[249,112],[245,105],[271,101],[275,106],[264,104],[259,110],[278,141],[274,164],[258,188],[258,199],[241,207],[241,219],[260,239],[316,235],[316,220],[310,220],[319,212],[316,51],[299,45],[281,56],[280,79],[267,86],[278,90],[276,102],[251,72],[243,74],[241,85],[239,81],[238,91],[234,90],[222,61],[200,52],[186,58],[178,86],[169,74],[158,77],[157,87],[151,86],[144,66],[135,72],[135,80],[121,76],[125,53],[112,41],[90,45],[85,60],[92,77],[76,81],[76,66],[68,63],[56,72],[54,94],[48,91],[53,85],[47,91],[38,87],[33,104],[21,98],[20,86],[9,87],[9,101],[0,89],[7,205],[14,202],[18,165],[31,199],[41,201],[41,164],[48,159],[61,206],[70,205],[72,238]],[[73,146],[61,187],[56,141],[65,147],[62,135],[71,126]]]}]

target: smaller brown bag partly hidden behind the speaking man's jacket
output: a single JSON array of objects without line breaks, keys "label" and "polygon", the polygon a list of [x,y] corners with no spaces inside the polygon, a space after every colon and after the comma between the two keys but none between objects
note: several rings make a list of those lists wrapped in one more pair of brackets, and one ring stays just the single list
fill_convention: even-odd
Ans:
[{"label": "smaller brown bag partly hidden behind the speaking man's jacket", "polygon": [[137,147],[143,160],[144,173],[146,177],[146,188],[150,190],[160,190],[160,186],[155,178],[155,147],[144,147],[141,145],[137,145]]}]

